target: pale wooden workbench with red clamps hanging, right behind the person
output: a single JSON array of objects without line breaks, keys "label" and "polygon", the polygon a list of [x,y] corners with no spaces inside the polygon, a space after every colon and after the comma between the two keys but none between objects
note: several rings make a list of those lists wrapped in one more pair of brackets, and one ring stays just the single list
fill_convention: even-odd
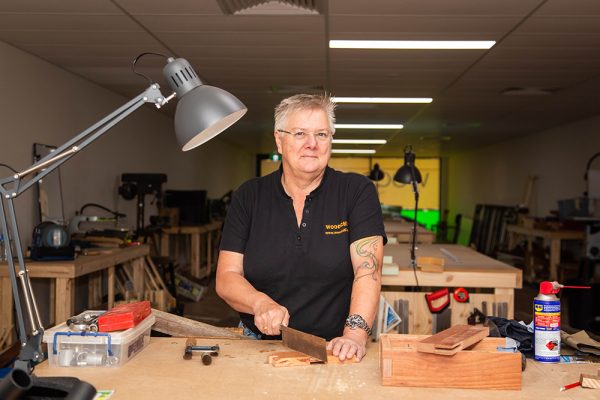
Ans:
[{"label": "pale wooden workbench with red clamps hanging, right behind the person", "polygon": [[[456,262],[444,255],[440,251],[442,248],[448,250],[459,261]],[[384,247],[384,254],[392,256],[393,263],[399,266],[398,275],[382,277],[384,297],[388,302],[409,301],[411,318],[409,319],[408,333],[431,334],[432,314],[427,308],[423,293],[401,291],[403,287],[414,288],[416,285],[415,275],[410,267],[410,245],[406,243],[388,244]],[[487,315],[499,316],[498,312],[494,313],[494,303],[506,303],[507,315],[505,317],[509,319],[514,317],[515,289],[523,287],[520,269],[478,253],[469,247],[455,244],[420,244],[416,256],[441,257],[445,260],[444,272],[417,271],[420,287],[431,287],[435,290],[464,287],[469,290],[470,300],[468,303],[451,300],[452,325],[466,324],[467,317],[475,307],[483,311],[483,302],[486,302],[487,305]],[[492,293],[475,293],[473,289],[487,289]]]}]

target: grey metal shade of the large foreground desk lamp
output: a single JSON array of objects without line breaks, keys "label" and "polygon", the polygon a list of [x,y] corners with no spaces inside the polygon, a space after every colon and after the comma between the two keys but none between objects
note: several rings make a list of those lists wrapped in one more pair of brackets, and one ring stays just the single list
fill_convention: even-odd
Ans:
[{"label": "grey metal shade of the large foreground desk lamp", "polygon": [[183,151],[209,141],[248,111],[231,93],[202,84],[183,58],[169,58],[163,75],[179,98],[175,110],[175,135]]}]

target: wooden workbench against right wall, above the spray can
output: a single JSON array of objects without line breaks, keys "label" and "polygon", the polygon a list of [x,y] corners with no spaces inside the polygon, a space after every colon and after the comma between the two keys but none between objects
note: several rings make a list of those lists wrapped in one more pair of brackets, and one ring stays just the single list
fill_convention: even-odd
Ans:
[{"label": "wooden workbench against right wall, above the spray can", "polygon": [[[527,250],[529,252],[533,249],[533,239],[542,238],[550,241],[550,277],[551,281],[558,279],[558,266],[560,265],[560,251],[561,242],[563,240],[579,240],[585,239],[584,231],[568,231],[568,230],[550,230],[550,229],[536,229],[526,228],[519,225],[507,225],[506,232],[508,234],[508,248],[513,249],[516,244],[518,237],[525,237],[527,239]],[[535,279],[533,266],[527,265],[526,278],[528,280]]]}]

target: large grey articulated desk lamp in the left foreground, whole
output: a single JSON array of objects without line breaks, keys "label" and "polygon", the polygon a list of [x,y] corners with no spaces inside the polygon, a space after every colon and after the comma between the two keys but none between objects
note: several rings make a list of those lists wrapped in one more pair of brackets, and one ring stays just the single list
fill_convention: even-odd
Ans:
[{"label": "large grey articulated desk lamp in the left foreground, whole", "polygon": [[[168,97],[163,96],[158,84],[135,71],[136,62],[147,54],[163,56],[166,59],[162,72],[173,91]],[[41,349],[44,328],[23,256],[14,200],[145,103],[152,103],[156,108],[161,108],[174,97],[178,98],[175,135],[183,151],[191,150],[212,139],[237,122],[247,111],[246,106],[235,96],[217,87],[203,84],[192,66],[183,58],[174,59],[162,54],[143,53],[134,59],[133,71],[150,81],[150,86],[144,92],[29,168],[0,179],[0,233],[3,233],[7,240],[8,270],[21,342],[21,350],[13,370],[0,381],[0,399],[16,399],[26,391],[35,391],[39,395],[39,392],[44,390],[44,394],[50,392],[60,398],[70,391],[69,399],[91,399],[96,394],[93,386],[75,378],[42,379],[32,375],[34,365],[44,360]],[[15,257],[18,271],[15,271]],[[21,296],[25,308],[21,304]],[[30,327],[28,330],[26,320]],[[60,379],[75,379],[77,382],[63,382],[65,384],[61,388],[62,383],[58,382]]]}]

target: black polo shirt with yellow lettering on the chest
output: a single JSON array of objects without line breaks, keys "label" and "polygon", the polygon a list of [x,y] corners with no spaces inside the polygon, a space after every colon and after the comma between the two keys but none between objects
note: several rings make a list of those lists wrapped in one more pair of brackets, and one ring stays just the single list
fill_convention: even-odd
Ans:
[{"label": "black polo shirt with yellow lettering on the chest", "polygon": [[[375,235],[387,241],[377,191],[362,175],[327,167],[298,226],[281,173],[235,191],[220,249],[244,254],[245,278],[288,309],[290,327],[331,340],[342,335],[350,308],[350,244]],[[253,315],[240,317],[260,333]]]}]

